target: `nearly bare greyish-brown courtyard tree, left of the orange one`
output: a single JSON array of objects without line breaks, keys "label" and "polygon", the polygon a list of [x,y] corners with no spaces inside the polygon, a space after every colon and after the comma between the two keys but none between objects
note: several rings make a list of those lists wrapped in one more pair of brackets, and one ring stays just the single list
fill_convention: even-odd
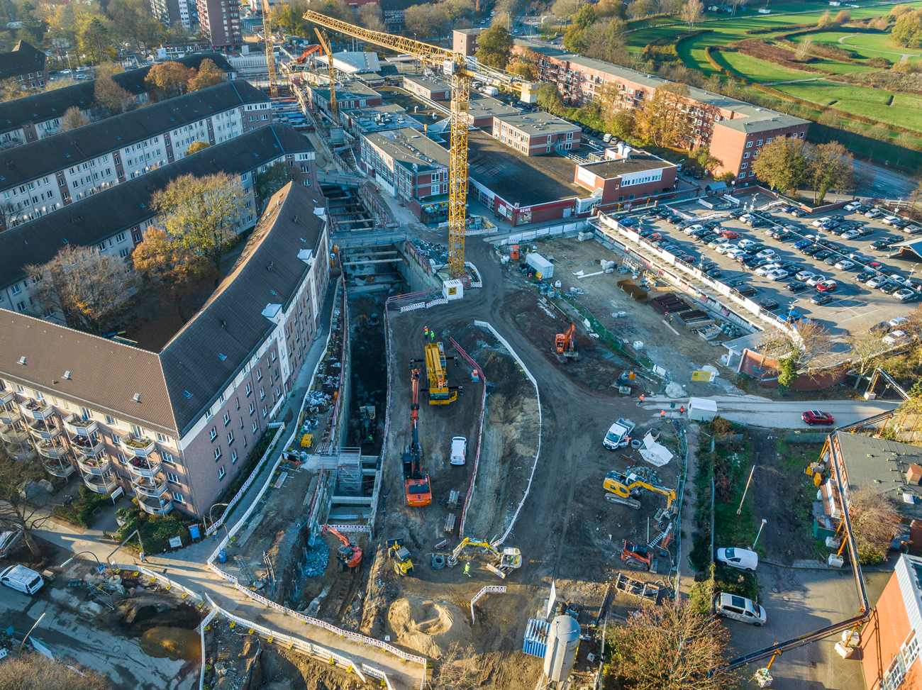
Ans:
[{"label": "nearly bare greyish-brown courtyard tree, left of the orange one", "polygon": [[97,335],[124,314],[139,282],[136,273],[125,272],[121,256],[70,244],[25,271],[38,279],[31,292],[42,311],[65,315],[68,323]]}]

